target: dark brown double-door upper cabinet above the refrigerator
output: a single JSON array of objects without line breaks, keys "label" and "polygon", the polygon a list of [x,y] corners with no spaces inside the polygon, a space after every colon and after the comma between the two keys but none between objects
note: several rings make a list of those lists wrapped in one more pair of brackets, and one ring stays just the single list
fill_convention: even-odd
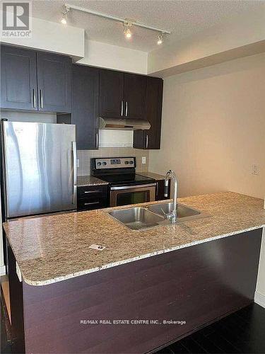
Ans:
[{"label": "dark brown double-door upper cabinet above the refrigerator", "polygon": [[1,108],[71,113],[71,58],[1,46]]}]

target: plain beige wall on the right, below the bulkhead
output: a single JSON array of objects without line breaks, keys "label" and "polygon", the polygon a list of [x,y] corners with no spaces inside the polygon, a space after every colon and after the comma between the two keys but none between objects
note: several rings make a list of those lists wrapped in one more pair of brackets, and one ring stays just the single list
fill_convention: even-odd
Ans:
[{"label": "plain beige wall on the right, below the bulkhead", "polygon": [[265,54],[166,78],[162,148],[151,152],[150,170],[174,169],[180,195],[264,198],[264,92]]}]

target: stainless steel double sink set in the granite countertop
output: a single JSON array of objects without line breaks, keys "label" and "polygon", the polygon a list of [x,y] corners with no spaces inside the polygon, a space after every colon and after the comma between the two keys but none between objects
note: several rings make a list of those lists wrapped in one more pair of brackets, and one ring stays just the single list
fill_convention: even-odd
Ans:
[{"label": "stainless steel double sink set in the granite countertop", "polygon": [[[163,202],[146,207],[129,207],[126,209],[112,210],[108,214],[132,230],[149,229],[150,227],[170,225],[172,222],[165,217],[172,211],[172,202]],[[206,213],[177,204],[177,223],[192,219],[206,217]]]}]

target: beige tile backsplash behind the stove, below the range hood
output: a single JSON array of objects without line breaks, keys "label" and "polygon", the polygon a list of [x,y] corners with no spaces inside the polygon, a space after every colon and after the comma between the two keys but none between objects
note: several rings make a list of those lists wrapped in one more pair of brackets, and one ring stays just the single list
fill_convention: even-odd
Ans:
[{"label": "beige tile backsplash behind the stove, below the range hood", "polygon": [[[90,159],[92,157],[136,157],[136,171],[147,172],[149,164],[149,151],[134,149],[132,147],[100,147],[98,150],[78,150],[79,167],[78,176],[90,175]],[[146,164],[142,164],[142,157],[146,157]]]}]

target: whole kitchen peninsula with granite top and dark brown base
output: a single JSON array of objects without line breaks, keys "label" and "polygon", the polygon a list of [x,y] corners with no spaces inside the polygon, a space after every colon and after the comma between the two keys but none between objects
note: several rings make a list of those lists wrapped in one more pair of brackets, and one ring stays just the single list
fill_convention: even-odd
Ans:
[{"label": "whole kitchen peninsula with granite top and dark brown base", "polygon": [[[133,231],[109,208],[4,224],[17,350],[146,353],[252,302],[263,200],[228,192],[178,202],[208,217]],[[133,323],[146,319],[158,322]]]}]

